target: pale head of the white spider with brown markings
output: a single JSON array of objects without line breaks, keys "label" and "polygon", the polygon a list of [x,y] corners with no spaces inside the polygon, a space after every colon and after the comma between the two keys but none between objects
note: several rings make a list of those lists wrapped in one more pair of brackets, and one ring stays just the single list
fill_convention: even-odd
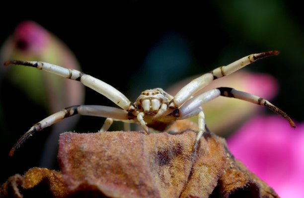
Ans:
[{"label": "pale head of the white spider with brown markings", "polygon": [[146,114],[154,115],[163,103],[171,100],[171,97],[161,88],[147,89],[141,93],[134,105]]}]

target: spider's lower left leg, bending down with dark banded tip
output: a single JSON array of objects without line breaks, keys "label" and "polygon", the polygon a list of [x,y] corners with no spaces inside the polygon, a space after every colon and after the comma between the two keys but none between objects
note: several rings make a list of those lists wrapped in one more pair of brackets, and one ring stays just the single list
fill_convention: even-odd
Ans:
[{"label": "spider's lower left leg, bending down with dark banded tip", "polygon": [[84,115],[84,116],[98,116],[105,118],[113,118],[117,120],[131,120],[130,115],[128,115],[127,111],[122,109],[107,107],[107,106],[97,106],[97,105],[80,105],[80,106],[72,106],[65,108],[45,119],[40,121],[31,127],[18,141],[13,145],[12,149],[9,152],[9,156],[14,154],[14,151],[20,147],[20,145],[30,136],[32,136],[35,132],[41,131],[42,129],[49,127],[62,119],[74,116],[76,114]]}]

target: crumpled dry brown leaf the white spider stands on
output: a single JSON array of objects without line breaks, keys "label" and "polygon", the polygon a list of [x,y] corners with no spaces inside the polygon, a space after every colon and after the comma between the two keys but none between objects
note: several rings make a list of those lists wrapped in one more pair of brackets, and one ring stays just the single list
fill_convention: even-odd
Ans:
[{"label": "crumpled dry brown leaf the white spider stands on", "polygon": [[[190,129],[189,129],[190,128]],[[12,176],[0,198],[278,198],[234,160],[224,138],[206,132],[193,151],[197,126],[167,132],[66,132],[59,140],[61,174],[43,168]],[[33,196],[29,196],[33,197]]]}]

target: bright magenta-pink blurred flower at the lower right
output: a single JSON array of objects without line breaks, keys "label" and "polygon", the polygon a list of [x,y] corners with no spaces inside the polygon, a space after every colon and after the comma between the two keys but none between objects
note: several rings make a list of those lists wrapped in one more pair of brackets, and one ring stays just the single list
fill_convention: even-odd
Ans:
[{"label": "bright magenta-pink blurred flower at the lower right", "polygon": [[279,116],[259,116],[227,142],[235,158],[279,196],[304,197],[304,124],[294,130]]}]

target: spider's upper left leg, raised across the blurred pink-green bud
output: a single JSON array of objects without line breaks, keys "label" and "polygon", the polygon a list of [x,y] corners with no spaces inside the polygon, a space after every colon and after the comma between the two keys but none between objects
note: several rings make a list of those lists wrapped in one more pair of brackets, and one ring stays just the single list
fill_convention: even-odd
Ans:
[{"label": "spider's upper left leg, raised across the blurred pink-green bud", "polygon": [[72,80],[80,81],[83,85],[97,91],[98,93],[104,95],[119,107],[126,111],[135,110],[131,101],[120,91],[115,89],[113,86],[99,80],[95,77],[82,73],[78,70],[65,68],[61,66],[56,66],[49,63],[44,62],[27,62],[27,61],[6,61],[4,63],[5,66],[8,65],[21,65],[21,66],[32,66],[37,69],[45,70],[62,77],[66,77]]}]

